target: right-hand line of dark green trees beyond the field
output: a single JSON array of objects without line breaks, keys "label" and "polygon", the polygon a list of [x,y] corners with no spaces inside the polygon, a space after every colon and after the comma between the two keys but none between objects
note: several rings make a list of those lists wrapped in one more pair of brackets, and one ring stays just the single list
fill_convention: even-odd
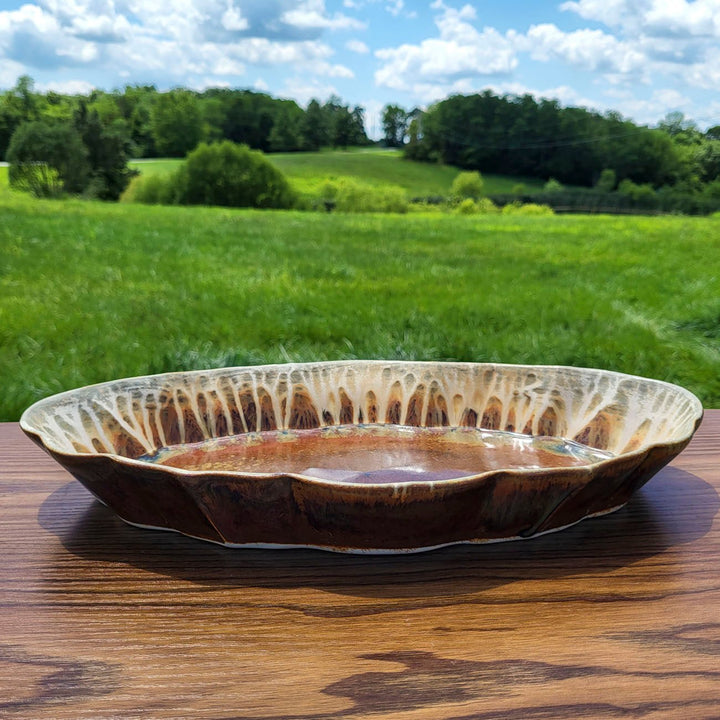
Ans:
[{"label": "right-hand line of dark green trees beyond the field", "polygon": [[[387,106],[388,141],[412,160],[573,186],[672,188],[720,197],[720,126],[701,132],[681,113],[657,128],[617,112],[561,107],[530,95],[454,95],[426,112]],[[603,171],[605,173],[603,174]],[[608,178],[612,178],[608,186]]]}]

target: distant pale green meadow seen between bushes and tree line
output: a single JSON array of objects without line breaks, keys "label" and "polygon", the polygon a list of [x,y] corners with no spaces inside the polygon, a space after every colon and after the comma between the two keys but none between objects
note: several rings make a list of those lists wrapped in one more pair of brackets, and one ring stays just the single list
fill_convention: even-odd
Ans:
[{"label": "distant pale green meadow seen between bushes and tree line", "polygon": [[[316,187],[328,178],[353,177],[367,183],[397,185],[408,197],[447,195],[458,168],[449,165],[416,163],[405,160],[399,150],[370,148],[347,151],[333,150],[317,153],[273,153],[267,156],[285,173],[299,191]],[[143,174],[167,173],[180,160],[158,159],[135,161],[133,166]],[[537,179],[483,175],[485,192],[509,193],[518,183],[527,190],[542,188]]]}]

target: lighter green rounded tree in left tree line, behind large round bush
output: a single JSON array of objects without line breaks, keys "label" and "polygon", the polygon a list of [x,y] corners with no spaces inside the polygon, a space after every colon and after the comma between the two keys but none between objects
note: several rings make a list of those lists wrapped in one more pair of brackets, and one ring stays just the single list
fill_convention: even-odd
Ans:
[{"label": "lighter green rounded tree in left tree line, behind large round bush", "polygon": [[161,156],[184,157],[200,142],[203,118],[189,90],[170,90],[155,100],[150,114],[155,149]]}]

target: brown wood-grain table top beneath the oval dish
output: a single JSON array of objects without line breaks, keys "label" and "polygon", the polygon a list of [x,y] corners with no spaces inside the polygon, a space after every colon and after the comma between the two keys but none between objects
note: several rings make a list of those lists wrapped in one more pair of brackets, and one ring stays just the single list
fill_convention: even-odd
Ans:
[{"label": "brown wood-grain table top beneath the oval dish", "polygon": [[0,717],[720,718],[720,410],[619,512],[408,556],[125,525],[0,424]]}]

